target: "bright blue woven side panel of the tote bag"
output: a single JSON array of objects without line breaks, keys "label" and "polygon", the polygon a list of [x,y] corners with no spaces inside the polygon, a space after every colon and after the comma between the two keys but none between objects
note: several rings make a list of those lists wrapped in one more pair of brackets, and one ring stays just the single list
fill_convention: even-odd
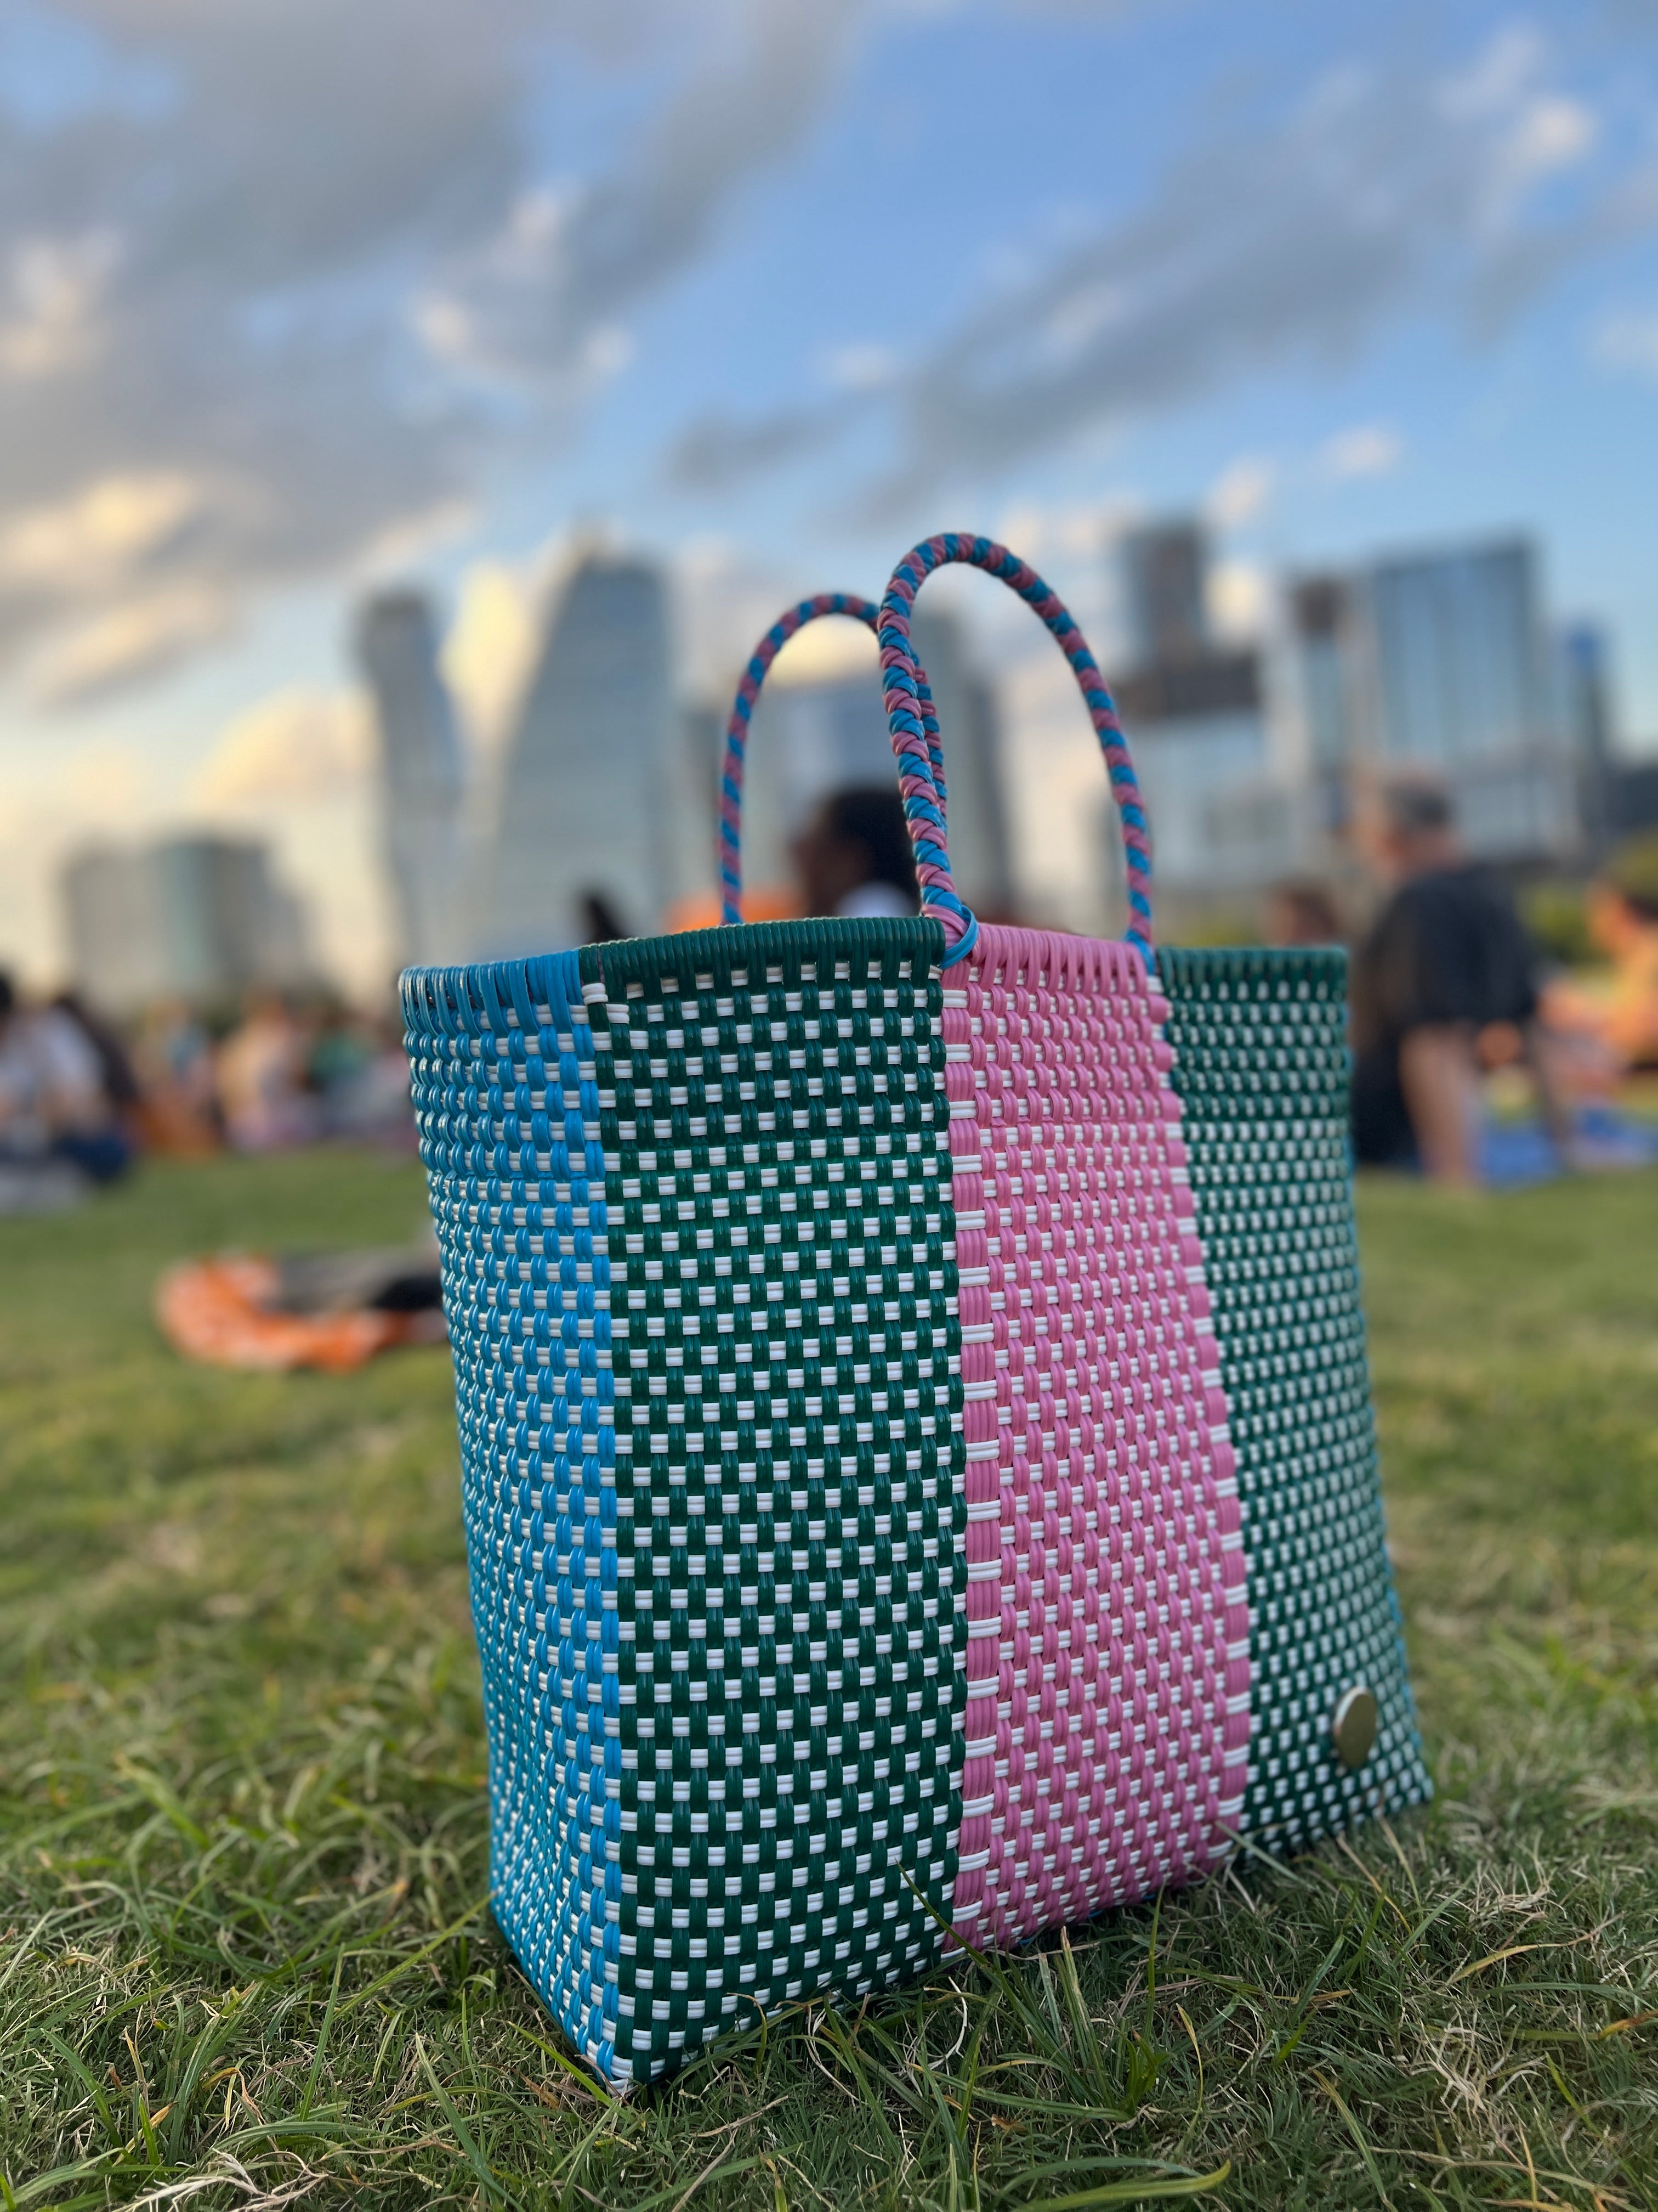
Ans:
[{"label": "bright blue woven side panel of the tote bag", "polygon": [[455,1360],[495,1913],[570,2037],[617,2033],[610,1239],[575,953],[402,978]]}]

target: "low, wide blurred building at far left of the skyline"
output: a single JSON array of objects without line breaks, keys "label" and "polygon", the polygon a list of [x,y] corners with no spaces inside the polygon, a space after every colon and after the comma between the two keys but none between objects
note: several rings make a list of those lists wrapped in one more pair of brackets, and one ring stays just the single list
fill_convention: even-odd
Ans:
[{"label": "low, wide blurred building at far left of the skyline", "polygon": [[177,836],[84,847],[60,874],[71,975],[99,1006],[195,1004],[312,980],[305,916],[265,845]]}]

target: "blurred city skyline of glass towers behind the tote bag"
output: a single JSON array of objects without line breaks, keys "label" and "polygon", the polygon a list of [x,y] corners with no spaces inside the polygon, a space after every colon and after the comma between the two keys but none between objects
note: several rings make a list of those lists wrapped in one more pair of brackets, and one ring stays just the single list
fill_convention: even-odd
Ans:
[{"label": "blurred city skyline of glass towers behind the tote bag", "polygon": [[[526,626],[524,672],[495,701],[493,748],[460,743],[464,668],[449,650],[453,630],[440,646],[427,595],[398,588],[360,604],[354,639],[374,723],[365,874],[380,878],[393,964],[714,918],[725,703],[690,692],[685,666],[674,664],[668,582],[661,564],[584,533]],[[1614,834],[1623,801],[1607,779],[1616,752],[1605,637],[1554,619],[1528,540],[1291,573],[1278,580],[1269,635],[1253,646],[1225,635],[1203,518],[1163,515],[1123,531],[1096,582],[1116,602],[1108,681],[1132,730],[1176,940],[1276,880],[1349,876],[1342,825],[1375,770],[1444,776],[1477,858],[1576,867]],[[1112,929],[1116,836],[1092,743],[1070,748],[1068,770],[1081,768],[1070,818],[1081,872],[1061,883],[1041,790],[1035,838],[1030,821],[1015,836],[1019,776],[1001,686],[968,626],[944,602],[917,608],[911,635],[944,730],[964,896],[984,914]],[[849,622],[807,628],[749,730],[743,856],[760,911],[787,900],[789,843],[816,801],[886,776],[871,637]],[[1645,821],[1649,799],[1636,805]],[[161,891],[175,865],[166,856],[190,845],[175,832],[69,856],[60,909],[66,967],[82,987],[137,1004],[183,989],[190,958],[263,975],[241,949],[259,898],[225,907],[219,956],[186,956],[177,925],[164,927],[164,909],[179,907]],[[195,845],[256,854],[259,869],[272,858],[263,841],[197,836]],[[199,894],[195,909],[208,914]],[[203,933],[201,920],[190,927]]]}]

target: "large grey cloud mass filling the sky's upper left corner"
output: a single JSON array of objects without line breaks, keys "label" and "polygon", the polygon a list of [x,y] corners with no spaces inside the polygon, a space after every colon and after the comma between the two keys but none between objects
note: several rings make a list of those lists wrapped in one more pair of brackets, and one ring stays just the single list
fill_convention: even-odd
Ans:
[{"label": "large grey cloud mass filling the sky's upper left corner", "polygon": [[[809,128],[862,18],[860,0],[710,0],[694,24],[670,0],[466,0],[464,29],[453,0],[64,11],[84,97],[0,135],[0,659],[38,697],[157,668],[250,591],[407,560],[504,453],[566,436],[626,367],[637,305]],[[634,122],[584,175],[548,142],[550,64],[623,80]],[[88,487],[126,487],[130,542]],[[168,529],[159,487],[192,487]]]}]

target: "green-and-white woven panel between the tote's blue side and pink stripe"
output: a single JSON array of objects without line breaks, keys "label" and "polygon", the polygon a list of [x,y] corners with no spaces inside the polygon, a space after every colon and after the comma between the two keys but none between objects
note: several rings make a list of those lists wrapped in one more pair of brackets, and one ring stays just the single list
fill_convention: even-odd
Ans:
[{"label": "green-and-white woven panel between the tote's blue side and pink stripe", "polygon": [[634,2077],[942,1949],[966,1509],[940,953],[920,920],[581,953]]}]

